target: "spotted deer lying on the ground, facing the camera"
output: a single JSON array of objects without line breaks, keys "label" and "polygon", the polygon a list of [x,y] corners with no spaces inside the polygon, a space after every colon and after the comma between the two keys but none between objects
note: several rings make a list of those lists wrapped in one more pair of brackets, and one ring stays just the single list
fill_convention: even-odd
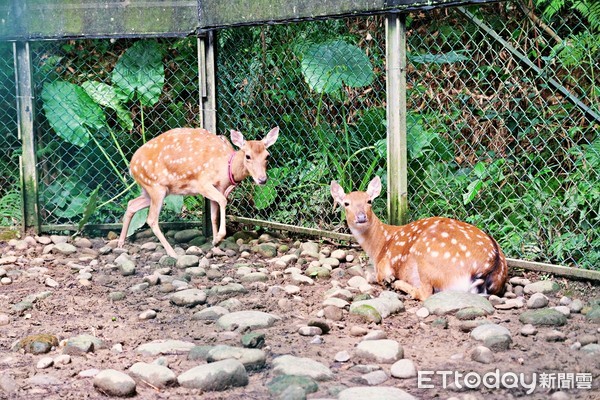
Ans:
[{"label": "spotted deer lying on the ground, facing the camera", "polygon": [[404,226],[382,223],[371,209],[381,192],[375,177],[366,192],[344,193],[331,182],[334,202],[343,205],[352,234],[375,265],[380,284],[417,300],[459,290],[499,294],[508,272],[498,243],[480,229],[450,218],[432,217]]}]

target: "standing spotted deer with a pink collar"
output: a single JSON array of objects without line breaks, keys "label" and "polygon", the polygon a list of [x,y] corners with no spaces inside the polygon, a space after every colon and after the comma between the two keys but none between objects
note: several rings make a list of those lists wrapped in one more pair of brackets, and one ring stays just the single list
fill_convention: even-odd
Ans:
[{"label": "standing spotted deer with a pink collar", "polygon": [[[267,148],[279,136],[279,127],[262,140],[244,140],[231,130],[235,151],[223,136],[205,129],[177,128],[167,131],[140,147],[131,158],[130,172],[142,188],[142,195],[131,200],[123,217],[118,246],[125,244],[129,223],[136,212],[150,207],[147,223],[167,254],[177,257],[158,226],[158,216],[167,195],[198,195],[210,200],[213,241],[225,237],[225,206],[233,188],[248,176],[254,182],[267,182]],[[217,213],[220,214],[218,225]]]}]

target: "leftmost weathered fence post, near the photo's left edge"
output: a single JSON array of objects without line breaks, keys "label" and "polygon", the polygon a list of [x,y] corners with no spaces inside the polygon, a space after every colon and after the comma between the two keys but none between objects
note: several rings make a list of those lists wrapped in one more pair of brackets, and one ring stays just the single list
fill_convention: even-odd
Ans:
[{"label": "leftmost weathered fence post, near the photo's left edge", "polygon": [[15,80],[17,91],[17,121],[19,139],[22,141],[21,187],[23,193],[23,221],[25,228],[40,231],[38,210],[37,159],[33,129],[33,88],[31,85],[31,58],[28,42],[15,42]]}]

